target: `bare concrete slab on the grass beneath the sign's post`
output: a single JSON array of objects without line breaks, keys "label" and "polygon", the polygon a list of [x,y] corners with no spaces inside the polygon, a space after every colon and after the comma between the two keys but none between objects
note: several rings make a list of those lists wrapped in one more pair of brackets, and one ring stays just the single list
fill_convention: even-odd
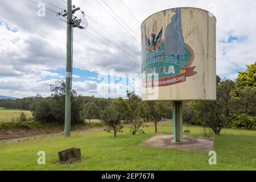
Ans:
[{"label": "bare concrete slab on the grass beneath the sign's post", "polygon": [[188,137],[183,136],[183,142],[173,142],[173,135],[157,135],[143,143],[140,146],[151,146],[159,148],[172,148],[185,151],[212,151],[214,144],[213,138]]}]

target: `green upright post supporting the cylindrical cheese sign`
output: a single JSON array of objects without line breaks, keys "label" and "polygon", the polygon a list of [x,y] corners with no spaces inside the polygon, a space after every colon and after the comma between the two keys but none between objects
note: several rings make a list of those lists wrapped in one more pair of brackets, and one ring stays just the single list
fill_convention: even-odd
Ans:
[{"label": "green upright post supporting the cylindrical cheese sign", "polygon": [[182,101],[173,101],[173,140],[182,142]]}]

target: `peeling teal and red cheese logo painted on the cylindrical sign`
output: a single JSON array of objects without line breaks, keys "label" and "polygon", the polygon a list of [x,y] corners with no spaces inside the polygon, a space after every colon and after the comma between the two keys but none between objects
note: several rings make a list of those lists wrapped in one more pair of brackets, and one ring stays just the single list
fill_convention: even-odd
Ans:
[{"label": "peeling teal and red cheese logo painted on the cylindrical sign", "polygon": [[184,42],[181,9],[165,10],[162,16],[166,23],[155,20],[151,26],[147,21],[142,25],[144,88],[179,84],[197,74],[196,67],[191,67],[193,49]]}]

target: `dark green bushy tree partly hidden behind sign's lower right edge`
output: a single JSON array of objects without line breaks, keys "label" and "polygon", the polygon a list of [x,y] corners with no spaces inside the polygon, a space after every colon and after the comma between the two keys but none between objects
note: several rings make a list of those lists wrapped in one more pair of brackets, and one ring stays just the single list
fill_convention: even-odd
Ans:
[{"label": "dark green bushy tree partly hidden behind sign's lower right edge", "polygon": [[[218,77],[217,77],[218,78]],[[232,96],[234,81],[217,80],[217,101],[191,102],[190,106],[206,127],[210,127],[216,135],[239,115],[237,100]]]}]

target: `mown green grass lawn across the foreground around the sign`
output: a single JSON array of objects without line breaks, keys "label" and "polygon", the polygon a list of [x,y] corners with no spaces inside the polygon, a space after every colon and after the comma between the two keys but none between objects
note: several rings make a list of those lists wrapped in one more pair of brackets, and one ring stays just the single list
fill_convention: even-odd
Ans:
[{"label": "mown green grass lawn across the foreground around the sign", "polygon": [[[188,129],[188,127],[184,127]],[[190,135],[202,136],[201,127],[189,127]],[[46,137],[22,142],[0,143],[1,170],[256,170],[256,131],[224,129],[214,137],[217,165],[210,166],[208,152],[178,151],[139,146],[155,136],[154,128],[145,135],[117,138],[105,131],[76,133],[71,138]],[[172,134],[172,126],[159,126],[159,134]],[[59,164],[58,151],[79,147],[82,162]],[[37,152],[46,152],[46,165],[37,164]]]}]

